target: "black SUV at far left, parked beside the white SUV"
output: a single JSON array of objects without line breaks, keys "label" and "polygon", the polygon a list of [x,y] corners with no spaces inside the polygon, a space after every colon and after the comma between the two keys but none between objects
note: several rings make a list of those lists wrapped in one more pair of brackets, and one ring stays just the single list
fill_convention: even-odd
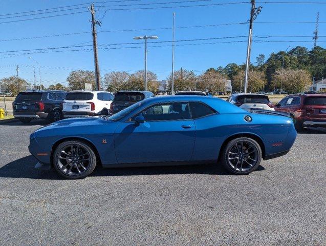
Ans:
[{"label": "black SUV at far left, parked beside the white SUV", "polygon": [[66,91],[19,92],[12,103],[14,117],[23,123],[32,119],[58,121],[62,118],[61,103],[66,94]]}]

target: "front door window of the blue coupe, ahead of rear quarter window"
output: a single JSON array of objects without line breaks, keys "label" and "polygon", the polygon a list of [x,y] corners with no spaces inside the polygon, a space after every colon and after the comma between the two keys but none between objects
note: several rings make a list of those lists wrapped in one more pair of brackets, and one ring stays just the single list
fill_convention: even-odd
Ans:
[{"label": "front door window of the blue coupe, ahead of rear quarter window", "polygon": [[141,113],[146,121],[190,119],[187,103],[157,104]]}]

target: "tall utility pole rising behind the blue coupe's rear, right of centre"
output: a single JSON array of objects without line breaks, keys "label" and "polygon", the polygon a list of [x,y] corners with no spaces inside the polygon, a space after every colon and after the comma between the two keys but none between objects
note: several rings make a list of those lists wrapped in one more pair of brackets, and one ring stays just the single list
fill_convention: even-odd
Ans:
[{"label": "tall utility pole rising behind the blue coupe's rear, right of centre", "polygon": [[251,11],[250,11],[250,20],[249,20],[249,35],[248,35],[248,46],[247,46],[247,59],[246,59],[246,72],[245,72],[245,88],[244,92],[247,93],[248,88],[248,75],[249,75],[249,66],[250,66],[250,52],[251,52],[251,43],[252,43],[252,24],[256,19],[257,15],[262,11],[261,6],[256,8],[256,1],[251,0]]}]

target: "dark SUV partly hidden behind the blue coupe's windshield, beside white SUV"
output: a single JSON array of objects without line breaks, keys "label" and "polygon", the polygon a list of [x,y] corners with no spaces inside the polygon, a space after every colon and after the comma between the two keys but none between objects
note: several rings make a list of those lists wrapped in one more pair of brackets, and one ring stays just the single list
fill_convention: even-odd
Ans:
[{"label": "dark SUV partly hidden behind the blue coupe's windshield, beside white SUV", "polygon": [[154,96],[153,92],[150,91],[119,91],[115,94],[111,104],[111,113],[118,113],[138,101]]}]

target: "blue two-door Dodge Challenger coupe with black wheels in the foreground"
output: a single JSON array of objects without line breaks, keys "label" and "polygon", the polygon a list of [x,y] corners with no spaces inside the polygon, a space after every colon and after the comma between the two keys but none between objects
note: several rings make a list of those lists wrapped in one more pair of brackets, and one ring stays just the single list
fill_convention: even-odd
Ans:
[{"label": "blue two-door Dodge Challenger coupe with black wheels in the foreground", "polygon": [[221,162],[248,174],[263,159],[289,152],[296,138],[291,118],[247,112],[203,96],[142,100],[114,115],[72,118],[36,130],[29,151],[35,168],[53,167],[66,178],[104,168]]}]

